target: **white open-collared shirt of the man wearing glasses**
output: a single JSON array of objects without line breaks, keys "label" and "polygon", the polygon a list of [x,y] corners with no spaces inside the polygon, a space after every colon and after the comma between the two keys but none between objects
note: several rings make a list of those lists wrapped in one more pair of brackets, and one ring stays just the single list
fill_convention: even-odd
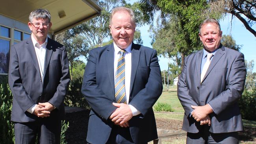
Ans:
[{"label": "white open-collared shirt of the man wearing glasses", "polygon": [[[42,79],[42,85],[43,85],[43,80],[44,80],[43,76],[44,76],[44,68],[45,68],[45,53],[46,53],[46,45],[47,45],[48,38],[46,37],[45,42],[41,45],[35,40],[35,38],[32,35],[31,35],[31,38],[32,38],[33,46],[35,48],[35,54],[37,55],[37,62],[38,62],[41,79]],[[27,109],[27,111],[29,113],[33,113],[36,105],[37,104],[32,105],[29,109]]]}]

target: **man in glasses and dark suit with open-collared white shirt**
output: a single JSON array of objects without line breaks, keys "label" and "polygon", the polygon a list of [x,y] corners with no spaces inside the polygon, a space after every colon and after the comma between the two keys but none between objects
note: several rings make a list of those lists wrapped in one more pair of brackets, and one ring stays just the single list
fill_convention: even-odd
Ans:
[{"label": "man in glasses and dark suit with open-collared white shirt", "polygon": [[50,13],[30,13],[29,39],[11,46],[9,85],[13,93],[11,120],[15,144],[59,144],[63,100],[69,85],[69,63],[63,45],[47,37]]}]

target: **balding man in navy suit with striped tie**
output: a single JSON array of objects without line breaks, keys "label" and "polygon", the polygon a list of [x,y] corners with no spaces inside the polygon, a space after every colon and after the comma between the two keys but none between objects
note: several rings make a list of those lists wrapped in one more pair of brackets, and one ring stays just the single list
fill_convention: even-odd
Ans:
[{"label": "balding man in navy suit with striped tie", "polygon": [[146,144],[158,138],[152,106],[163,88],[156,50],[132,42],[131,9],[113,9],[109,28],[113,43],[89,52],[83,76],[82,93],[92,107],[87,141]]}]

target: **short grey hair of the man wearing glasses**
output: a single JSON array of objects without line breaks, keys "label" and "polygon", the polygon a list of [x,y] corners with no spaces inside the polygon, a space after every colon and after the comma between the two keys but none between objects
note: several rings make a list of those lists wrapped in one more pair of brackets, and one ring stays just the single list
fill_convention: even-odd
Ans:
[{"label": "short grey hair of the man wearing glasses", "polygon": [[28,18],[30,22],[32,22],[33,18],[36,20],[48,18],[49,22],[51,22],[51,15],[47,9],[35,9],[30,13]]}]

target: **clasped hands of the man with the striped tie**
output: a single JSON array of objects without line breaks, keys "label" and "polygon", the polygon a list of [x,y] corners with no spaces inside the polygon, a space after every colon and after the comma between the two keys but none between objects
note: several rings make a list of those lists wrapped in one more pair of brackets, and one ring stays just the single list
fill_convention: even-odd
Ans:
[{"label": "clasped hands of the man with the striped tie", "polygon": [[129,120],[132,118],[132,110],[128,104],[113,103],[117,109],[109,116],[109,119],[114,122],[115,125],[121,127],[129,127]]}]

